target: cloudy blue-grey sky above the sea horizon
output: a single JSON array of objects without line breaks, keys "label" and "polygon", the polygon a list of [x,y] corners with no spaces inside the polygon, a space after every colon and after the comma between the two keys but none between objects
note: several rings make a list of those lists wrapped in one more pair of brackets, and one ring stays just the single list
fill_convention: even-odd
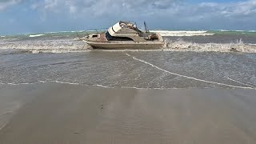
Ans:
[{"label": "cloudy blue-grey sky above the sea horizon", "polygon": [[[0,0],[0,34],[106,28],[256,30],[256,0]],[[139,24],[142,26],[142,24]]]}]

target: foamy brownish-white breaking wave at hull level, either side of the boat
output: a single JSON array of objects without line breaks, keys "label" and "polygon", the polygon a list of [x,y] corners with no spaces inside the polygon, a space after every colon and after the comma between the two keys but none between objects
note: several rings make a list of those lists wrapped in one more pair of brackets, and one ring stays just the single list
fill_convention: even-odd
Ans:
[{"label": "foamy brownish-white breaking wave at hull level, either side of the boat", "polygon": [[[31,53],[70,53],[84,52],[92,48],[85,42],[74,39],[55,40],[27,40],[0,42],[0,50],[26,50]],[[196,43],[186,42],[182,39],[171,40],[165,38],[165,46],[155,50],[108,50],[108,51],[214,51],[214,52],[243,52],[256,53],[255,44],[245,44],[242,40],[233,43]]]}]

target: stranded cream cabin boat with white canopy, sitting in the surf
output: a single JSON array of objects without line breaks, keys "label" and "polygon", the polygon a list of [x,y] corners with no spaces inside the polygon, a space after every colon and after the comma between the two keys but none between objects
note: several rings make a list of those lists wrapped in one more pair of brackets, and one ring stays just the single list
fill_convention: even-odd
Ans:
[{"label": "stranded cream cabin boat with white canopy, sitting in the surf", "polygon": [[90,34],[83,41],[98,49],[156,49],[164,45],[162,36],[147,29],[139,30],[133,22],[118,22],[106,32]]}]

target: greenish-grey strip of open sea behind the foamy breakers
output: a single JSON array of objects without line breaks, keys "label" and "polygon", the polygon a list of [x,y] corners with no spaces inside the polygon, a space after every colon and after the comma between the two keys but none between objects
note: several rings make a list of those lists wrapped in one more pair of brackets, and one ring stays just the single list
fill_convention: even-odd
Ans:
[{"label": "greenish-grey strip of open sea behind the foamy breakers", "polygon": [[[14,35],[2,35],[0,40],[3,42],[14,42],[14,41],[26,41],[26,40],[49,40],[49,39],[74,39],[78,36],[82,37],[86,34],[100,32],[95,30],[88,30],[88,31],[64,31],[64,32],[49,32],[49,33],[37,33],[37,34],[14,34]],[[169,30],[163,30],[165,32],[171,32]],[[184,31],[186,32],[186,31]],[[195,31],[196,32],[196,31]],[[175,31],[178,33],[178,31]],[[190,31],[187,31],[190,33]],[[184,39],[185,41],[188,40],[193,42],[199,43],[206,43],[206,42],[220,42],[220,43],[230,43],[236,42],[242,39],[244,43],[254,43],[256,44],[256,32],[253,30],[250,31],[229,31],[229,30],[208,30],[206,34],[214,34],[208,35],[205,37],[201,36],[194,36],[194,37],[177,37],[177,38],[187,38]],[[175,39],[175,37],[174,37]],[[200,40],[201,39],[201,40]]]}]

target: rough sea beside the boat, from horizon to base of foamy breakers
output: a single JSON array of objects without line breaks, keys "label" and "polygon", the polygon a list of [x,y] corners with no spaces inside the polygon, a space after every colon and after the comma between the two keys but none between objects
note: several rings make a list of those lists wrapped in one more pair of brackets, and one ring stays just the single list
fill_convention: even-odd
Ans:
[{"label": "rough sea beside the boat, from horizon to base of foamy breakers", "polygon": [[[32,53],[50,52],[66,53],[90,50],[91,47],[74,38],[83,37],[94,31],[51,32],[44,34],[6,35],[0,38],[0,49],[26,50]],[[164,31],[173,35],[171,31]],[[183,32],[181,36],[175,31],[174,36],[163,37],[167,51],[240,51],[256,53],[256,32],[254,31],[216,31],[211,30],[202,35]],[[168,35],[167,34],[167,35]],[[203,34],[210,34],[205,35]],[[176,36],[175,36],[176,35]],[[189,36],[188,36],[189,35]]]}]

